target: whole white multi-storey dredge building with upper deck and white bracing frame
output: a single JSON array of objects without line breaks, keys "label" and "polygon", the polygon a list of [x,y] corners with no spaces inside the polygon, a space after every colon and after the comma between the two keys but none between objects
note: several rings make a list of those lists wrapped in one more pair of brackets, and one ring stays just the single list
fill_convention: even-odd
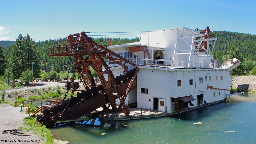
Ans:
[{"label": "whole white multi-storey dredge building with upper deck and white bracing frame", "polygon": [[[129,92],[126,104],[178,113],[224,101],[232,95],[230,71],[239,65],[239,60],[220,64],[214,58],[217,38],[212,37],[209,27],[202,31],[166,29],[138,37],[139,42],[108,47],[139,67],[137,88]],[[111,61],[108,65],[114,76],[123,71],[122,66]],[[116,104],[119,103],[117,99]]]}]

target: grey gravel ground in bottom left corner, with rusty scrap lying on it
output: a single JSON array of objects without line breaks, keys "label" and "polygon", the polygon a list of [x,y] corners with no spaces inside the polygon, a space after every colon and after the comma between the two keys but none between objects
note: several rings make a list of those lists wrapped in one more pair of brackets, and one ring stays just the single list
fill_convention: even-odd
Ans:
[{"label": "grey gravel ground in bottom left corner, with rusty scrap lying on it", "polygon": [[[27,117],[28,114],[25,114],[25,112],[20,112],[19,107],[0,107],[0,128],[1,131],[4,130],[12,130],[12,129],[18,129],[18,125],[23,125],[23,118]],[[25,108],[23,108],[25,110]],[[11,117],[10,117],[11,115]],[[27,135],[35,135],[30,134],[32,131],[25,131],[25,134]],[[18,136],[18,135],[12,135],[9,133],[6,134],[0,134],[0,143],[9,144],[9,143],[15,143],[14,140],[16,140],[16,143],[19,143],[18,140],[30,140],[29,143],[31,143],[31,140],[40,140],[39,143],[43,143],[44,141],[41,139],[39,135],[36,136]],[[2,142],[4,140],[4,142]],[[5,140],[13,141],[13,142],[5,142]],[[35,142],[36,143],[36,142]],[[22,143],[23,144],[23,143]]]}]

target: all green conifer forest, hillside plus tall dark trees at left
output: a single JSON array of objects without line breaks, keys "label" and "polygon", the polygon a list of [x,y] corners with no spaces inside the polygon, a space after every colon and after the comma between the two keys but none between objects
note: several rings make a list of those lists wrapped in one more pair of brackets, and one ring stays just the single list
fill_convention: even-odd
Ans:
[{"label": "all green conifer forest, hillside plus tall dark trees at left", "polygon": [[[223,63],[226,59],[229,58],[237,58],[240,60],[240,66],[232,72],[233,75],[255,75],[256,73],[256,35],[244,34],[238,32],[228,32],[228,31],[213,31],[214,38],[217,38],[215,48],[213,51],[214,57],[220,59],[220,62]],[[20,39],[24,39],[21,43]],[[109,46],[110,38],[93,38],[99,44]],[[34,42],[29,35],[26,37],[18,36],[16,41],[0,41],[0,45],[2,46],[2,50],[0,53],[5,57],[5,64],[7,66],[19,65],[21,62],[18,61],[19,55],[24,54],[24,57],[20,61],[24,61],[25,63],[29,63],[30,61],[37,61],[37,69],[33,71],[33,75],[40,78],[41,71],[50,72],[55,70],[57,73],[65,72],[68,70],[68,61],[69,57],[48,57],[47,48],[52,47],[54,45],[61,44],[64,38],[59,38],[55,40],[45,40]],[[139,38],[113,38],[113,45],[126,44],[140,41]],[[15,51],[19,50],[21,44],[27,45],[27,48],[24,51],[27,53],[23,53],[20,51],[19,54],[15,53]],[[32,50],[34,49],[34,50]],[[32,52],[34,54],[30,59],[25,59],[25,56]],[[72,59],[72,58],[71,58]],[[14,61],[15,60],[15,61]],[[1,61],[2,62],[2,61]],[[12,68],[13,71],[19,72],[19,74],[15,74],[15,78],[18,79],[20,73],[29,66],[23,66],[22,69]],[[11,67],[10,67],[11,68]],[[3,69],[0,75],[4,75]],[[72,72],[72,69],[71,69]]]}]

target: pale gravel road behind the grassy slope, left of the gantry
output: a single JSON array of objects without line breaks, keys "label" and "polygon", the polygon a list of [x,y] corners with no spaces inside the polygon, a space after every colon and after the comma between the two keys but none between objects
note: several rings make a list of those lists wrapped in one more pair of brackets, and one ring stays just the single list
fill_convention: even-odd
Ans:
[{"label": "pale gravel road behind the grassy slope, left of the gantry", "polygon": [[[13,92],[13,91],[24,91],[28,89],[41,89],[43,87],[57,87],[57,85],[63,87],[65,86],[65,83],[58,83],[58,82],[33,82],[33,86],[29,87],[23,87],[21,89],[12,89],[12,90],[6,90],[6,93]],[[1,92],[1,91],[0,91]]]}]

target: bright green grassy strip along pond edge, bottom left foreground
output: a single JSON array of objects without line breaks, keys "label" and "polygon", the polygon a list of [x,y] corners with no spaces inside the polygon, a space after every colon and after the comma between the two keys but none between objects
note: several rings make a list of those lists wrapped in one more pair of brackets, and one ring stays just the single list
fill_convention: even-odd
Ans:
[{"label": "bright green grassy strip along pond edge, bottom left foreground", "polygon": [[24,129],[27,131],[32,131],[33,134],[39,134],[41,138],[45,141],[47,144],[54,144],[53,143],[53,137],[51,136],[51,131],[46,128],[45,125],[42,125],[41,123],[36,122],[35,118],[31,117],[25,117],[24,118],[24,126],[18,126],[18,129]]}]

